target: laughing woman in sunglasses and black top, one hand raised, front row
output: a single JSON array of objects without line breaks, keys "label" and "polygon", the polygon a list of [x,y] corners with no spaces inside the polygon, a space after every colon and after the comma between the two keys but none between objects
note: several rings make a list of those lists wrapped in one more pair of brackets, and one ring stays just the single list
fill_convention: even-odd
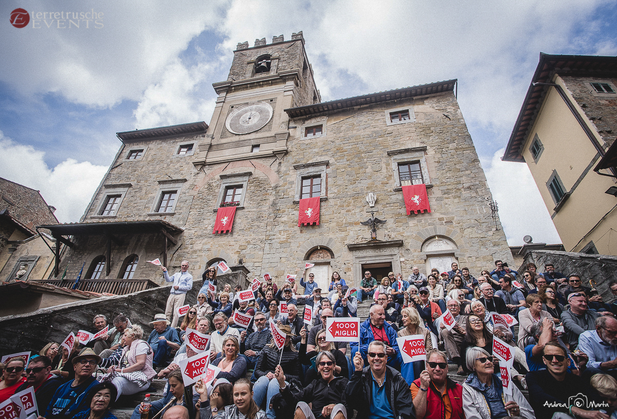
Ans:
[{"label": "laughing woman in sunglasses and black top, one hand raised, front row", "polygon": [[[336,351],[339,352],[339,351]],[[343,361],[347,364],[347,361]],[[315,359],[315,365],[319,371],[318,378],[311,381],[299,393],[294,393],[285,382],[286,376],[280,365],[276,366],[275,376],[278,381],[279,391],[283,400],[290,406],[296,406],[296,410],[302,410],[304,417],[310,418],[334,418],[341,412],[342,417],[347,419],[347,407],[341,404],[343,394],[347,386],[346,376],[337,376],[334,371],[337,362],[330,351],[321,351]],[[309,408],[309,404],[311,407]],[[298,417],[298,415],[296,415]]]}]

